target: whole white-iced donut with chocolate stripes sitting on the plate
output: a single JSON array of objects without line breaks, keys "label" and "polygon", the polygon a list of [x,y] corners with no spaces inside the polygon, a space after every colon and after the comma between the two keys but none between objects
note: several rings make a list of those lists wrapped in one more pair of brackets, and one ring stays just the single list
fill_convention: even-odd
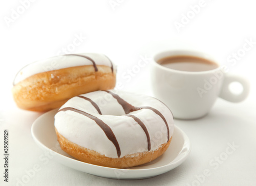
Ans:
[{"label": "whole white-iced donut with chocolate stripes sitting on the plate", "polygon": [[54,116],[58,142],[77,160],[127,168],[155,160],[168,148],[174,119],[156,98],[120,90],[68,100]]}]

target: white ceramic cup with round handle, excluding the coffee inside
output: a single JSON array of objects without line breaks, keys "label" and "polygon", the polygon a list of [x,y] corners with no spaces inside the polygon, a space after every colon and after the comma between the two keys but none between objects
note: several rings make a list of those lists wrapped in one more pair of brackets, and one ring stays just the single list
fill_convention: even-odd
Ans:
[{"label": "white ceramic cup with round handle, excluding the coffee inside", "polygon": [[[155,55],[151,71],[153,93],[169,107],[175,118],[201,118],[210,111],[217,97],[240,102],[248,96],[249,82],[244,77],[226,73],[227,66],[218,64],[213,70],[191,72],[170,69],[157,62],[171,56],[195,56],[218,63],[204,52],[193,50],[169,50]],[[243,86],[240,94],[230,91],[232,82]]]}]

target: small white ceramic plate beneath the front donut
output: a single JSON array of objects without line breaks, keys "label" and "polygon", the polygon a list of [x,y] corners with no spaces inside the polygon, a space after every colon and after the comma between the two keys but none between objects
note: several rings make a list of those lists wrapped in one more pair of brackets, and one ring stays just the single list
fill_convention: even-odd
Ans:
[{"label": "small white ceramic plate beneath the front donut", "polygon": [[54,130],[54,115],[57,111],[57,109],[49,111],[35,120],[31,128],[32,137],[39,147],[49,151],[59,163],[88,174],[114,179],[154,177],[179,166],[191,150],[189,139],[180,128],[175,126],[168,149],[150,163],[128,169],[116,169],[80,162],[61,150],[58,145]]}]

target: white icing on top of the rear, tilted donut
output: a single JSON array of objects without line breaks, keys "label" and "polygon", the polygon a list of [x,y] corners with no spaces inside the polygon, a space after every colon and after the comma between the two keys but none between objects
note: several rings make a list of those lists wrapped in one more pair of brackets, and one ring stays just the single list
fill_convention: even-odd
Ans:
[{"label": "white icing on top of the rear, tilted donut", "polygon": [[[96,65],[111,67],[111,61],[103,54],[82,53],[77,55],[84,55],[90,57],[91,59],[93,59],[93,61],[95,61]],[[45,60],[36,61],[23,67],[15,76],[13,84],[15,85],[20,81],[23,81],[27,77],[37,73],[83,65],[93,65],[93,63],[86,58],[71,55],[55,56]],[[116,69],[116,66],[114,64],[113,69]]]}]

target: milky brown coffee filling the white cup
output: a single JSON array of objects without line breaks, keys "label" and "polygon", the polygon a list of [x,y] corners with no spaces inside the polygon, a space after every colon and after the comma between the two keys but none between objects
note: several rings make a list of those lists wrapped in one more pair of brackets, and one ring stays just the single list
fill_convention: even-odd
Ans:
[{"label": "milky brown coffee filling the white cup", "polygon": [[181,71],[199,72],[218,68],[218,64],[195,56],[169,56],[157,61],[160,65]]}]

